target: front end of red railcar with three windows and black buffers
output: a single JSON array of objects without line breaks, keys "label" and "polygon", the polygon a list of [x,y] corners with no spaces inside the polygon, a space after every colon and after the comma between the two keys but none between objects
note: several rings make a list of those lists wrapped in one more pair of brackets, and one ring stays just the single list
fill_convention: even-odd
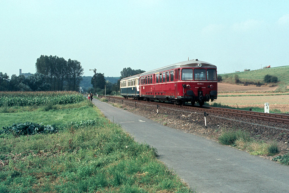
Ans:
[{"label": "front end of red railcar with three windows and black buffers", "polygon": [[210,63],[193,60],[191,63],[181,65],[178,81],[178,100],[199,103],[217,99],[217,67]]}]

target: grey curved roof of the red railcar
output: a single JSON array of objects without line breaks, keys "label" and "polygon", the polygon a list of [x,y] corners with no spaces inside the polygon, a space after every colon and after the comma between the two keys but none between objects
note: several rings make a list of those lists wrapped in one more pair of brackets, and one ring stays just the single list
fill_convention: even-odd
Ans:
[{"label": "grey curved roof of the red railcar", "polygon": [[183,62],[179,62],[179,63],[175,63],[175,64],[171,64],[165,67],[161,67],[158,69],[154,69],[154,70],[150,70],[144,73],[141,73],[140,76],[144,76],[147,74],[151,74],[151,73],[157,73],[158,71],[162,72],[162,71],[166,71],[172,68],[185,68],[185,67],[198,67],[198,64],[201,64],[203,68],[217,68],[215,65],[212,65],[210,63],[204,62],[204,61],[199,61],[199,60],[187,60],[187,61],[183,61]]}]

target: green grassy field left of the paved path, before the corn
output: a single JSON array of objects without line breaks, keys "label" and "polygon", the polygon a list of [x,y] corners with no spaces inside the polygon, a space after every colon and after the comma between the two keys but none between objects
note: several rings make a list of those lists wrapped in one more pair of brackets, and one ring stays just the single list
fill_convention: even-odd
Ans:
[{"label": "green grassy field left of the paved path, before the corn", "polygon": [[136,143],[88,100],[47,106],[0,113],[0,126],[43,122],[58,128],[18,137],[0,132],[1,193],[192,192],[156,159],[154,148]]}]

